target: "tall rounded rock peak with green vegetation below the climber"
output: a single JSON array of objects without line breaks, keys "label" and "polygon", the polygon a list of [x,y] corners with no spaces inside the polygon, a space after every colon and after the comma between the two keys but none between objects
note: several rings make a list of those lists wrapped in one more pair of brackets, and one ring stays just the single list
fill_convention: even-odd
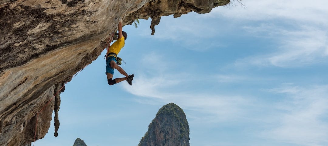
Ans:
[{"label": "tall rounded rock peak with green vegetation below the climber", "polygon": [[189,139],[185,113],[170,103],[158,110],[138,146],[189,146]]}]

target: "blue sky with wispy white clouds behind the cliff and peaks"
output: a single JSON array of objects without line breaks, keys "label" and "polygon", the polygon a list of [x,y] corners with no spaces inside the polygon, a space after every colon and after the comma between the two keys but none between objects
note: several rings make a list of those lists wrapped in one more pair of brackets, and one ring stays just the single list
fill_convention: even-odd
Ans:
[{"label": "blue sky with wispy white clouds behind the cliff and peaks", "polygon": [[151,20],[123,27],[133,85],[107,84],[104,51],[61,94],[58,137],[51,123],[35,146],[137,145],[171,102],[192,146],[328,145],[328,2],[235,4],[162,17],[154,36]]}]

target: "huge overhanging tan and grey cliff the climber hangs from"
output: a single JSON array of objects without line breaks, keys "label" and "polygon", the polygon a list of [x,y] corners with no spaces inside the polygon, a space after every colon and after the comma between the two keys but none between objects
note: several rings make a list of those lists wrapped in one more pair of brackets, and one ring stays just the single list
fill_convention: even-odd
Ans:
[{"label": "huge overhanging tan and grey cliff the climber hangs from", "polygon": [[[35,131],[36,139],[45,136],[52,111],[58,113],[59,96],[41,109],[100,55],[105,48],[100,41],[115,31],[120,18],[127,25],[151,17],[153,34],[160,16],[207,13],[229,2],[0,0],[0,145],[29,144]],[[55,123],[58,129],[59,121]]]}]

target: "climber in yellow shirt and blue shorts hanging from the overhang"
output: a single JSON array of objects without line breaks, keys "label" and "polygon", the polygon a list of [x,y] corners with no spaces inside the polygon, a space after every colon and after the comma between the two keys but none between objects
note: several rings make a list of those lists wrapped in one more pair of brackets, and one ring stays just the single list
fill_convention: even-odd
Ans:
[{"label": "climber in yellow shirt and blue shorts hanging from the overhang", "polygon": [[[134,75],[128,75],[123,68],[117,65],[117,54],[121,51],[124,47],[125,40],[128,37],[126,32],[122,31],[122,19],[118,23],[118,35],[117,40],[107,49],[106,53],[106,75],[107,75],[107,82],[108,85],[114,85],[116,83],[122,82],[124,80],[128,81],[129,85],[132,85],[132,80]],[[114,68],[118,70],[119,73],[124,75],[124,78],[116,78],[113,79]]]}]

